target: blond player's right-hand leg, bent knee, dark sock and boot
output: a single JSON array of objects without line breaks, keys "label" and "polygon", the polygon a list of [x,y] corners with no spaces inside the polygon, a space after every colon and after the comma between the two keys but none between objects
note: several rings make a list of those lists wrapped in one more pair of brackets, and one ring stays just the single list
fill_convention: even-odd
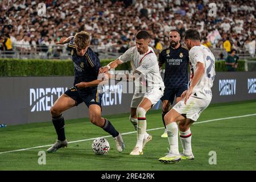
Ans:
[{"label": "blond player's right-hand leg, bent knee, dark sock and boot", "polygon": [[115,139],[115,145],[117,147],[118,152],[122,152],[125,148],[125,144],[123,143],[121,133],[118,133],[115,130],[112,123],[106,119],[101,117],[101,107],[97,104],[92,104],[89,106],[89,118],[90,122],[94,125],[101,127],[104,131],[108,132]]}]

